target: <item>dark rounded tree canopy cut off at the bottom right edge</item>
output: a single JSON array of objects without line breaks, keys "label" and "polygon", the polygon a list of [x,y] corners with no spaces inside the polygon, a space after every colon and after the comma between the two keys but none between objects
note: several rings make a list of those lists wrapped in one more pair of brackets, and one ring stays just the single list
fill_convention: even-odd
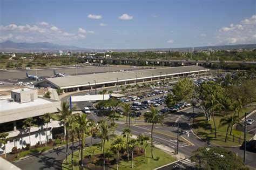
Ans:
[{"label": "dark rounded tree canopy cut off at the bottom right edge", "polygon": [[199,147],[193,153],[191,161],[199,169],[248,169],[238,155],[221,147]]}]

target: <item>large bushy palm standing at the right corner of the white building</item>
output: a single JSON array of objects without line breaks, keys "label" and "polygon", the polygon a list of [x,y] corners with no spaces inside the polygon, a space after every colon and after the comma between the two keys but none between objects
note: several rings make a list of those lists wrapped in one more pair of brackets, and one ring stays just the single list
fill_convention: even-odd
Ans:
[{"label": "large bushy palm standing at the right corner of the white building", "polygon": [[69,104],[66,102],[63,102],[61,108],[57,108],[57,110],[59,113],[55,114],[53,119],[64,124],[64,135],[66,136],[66,164],[68,164],[68,126],[72,111],[69,110]]}]

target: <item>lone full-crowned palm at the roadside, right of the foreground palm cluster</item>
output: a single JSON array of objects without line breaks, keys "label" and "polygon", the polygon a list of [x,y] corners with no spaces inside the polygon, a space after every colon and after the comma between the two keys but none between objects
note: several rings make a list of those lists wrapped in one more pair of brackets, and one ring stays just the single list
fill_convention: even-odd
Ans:
[{"label": "lone full-crowned palm at the roadside, right of the foreground palm cluster", "polygon": [[150,112],[145,114],[145,118],[147,120],[147,123],[152,123],[151,127],[151,158],[153,158],[153,128],[154,124],[160,123],[161,126],[163,126],[163,123],[161,122],[164,117],[160,114],[157,114],[158,110],[154,107],[150,107]]}]

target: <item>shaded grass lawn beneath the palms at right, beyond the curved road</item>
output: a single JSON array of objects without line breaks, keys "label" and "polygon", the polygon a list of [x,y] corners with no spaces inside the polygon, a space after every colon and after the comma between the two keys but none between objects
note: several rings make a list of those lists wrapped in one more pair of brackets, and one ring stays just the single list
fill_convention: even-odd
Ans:
[{"label": "shaded grass lawn beneath the palms at right, beyond the curved road", "polygon": [[[248,107],[248,108],[244,108],[241,113],[240,113],[240,117],[242,117],[242,113],[251,111],[252,108]],[[223,126],[223,127],[219,127],[219,123],[220,123],[220,119],[223,118],[222,115],[218,115],[215,114],[214,116],[215,118],[215,123],[216,123],[216,127],[217,127],[217,138],[214,138],[214,125],[213,125],[213,119],[211,118],[210,121],[207,121],[204,114],[200,114],[198,115],[198,117],[195,118],[195,123],[193,124],[193,130],[194,132],[196,132],[199,137],[208,140],[214,144],[217,145],[222,145],[222,146],[237,146],[237,145],[241,145],[242,141],[244,141],[244,133],[240,132],[239,133],[241,135],[235,135],[234,137],[234,141],[233,141],[233,134],[230,134],[230,130],[228,132],[227,135],[227,142],[225,142],[225,137],[226,137],[226,131],[227,131],[227,126]],[[239,144],[239,136],[241,136],[241,143]],[[252,138],[251,134],[246,134],[246,139],[250,139]]]}]

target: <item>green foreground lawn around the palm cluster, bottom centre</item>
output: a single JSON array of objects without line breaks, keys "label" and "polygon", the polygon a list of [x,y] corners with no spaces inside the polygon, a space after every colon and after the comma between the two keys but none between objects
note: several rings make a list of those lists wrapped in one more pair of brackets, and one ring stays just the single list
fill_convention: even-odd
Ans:
[{"label": "green foreground lawn around the palm cluster, bottom centre", "polygon": [[[122,138],[122,137],[119,137],[119,138]],[[125,140],[126,138],[123,138],[123,139]],[[111,140],[109,140],[109,142],[106,142],[105,152],[107,150],[109,150],[110,145],[111,145]],[[100,151],[100,145],[99,144],[93,145],[93,148],[95,148],[94,155],[102,153]],[[86,147],[83,151],[83,154],[84,155],[90,155],[91,154],[91,147],[90,146]],[[153,148],[153,154],[154,154],[154,158],[159,156],[160,159],[159,160],[151,159],[151,147],[149,145],[146,148],[146,162],[145,163],[143,162],[144,161],[144,156],[142,155],[140,157],[136,157],[136,158],[133,159],[133,168],[131,168],[131,160],[130,160],[129,162],[120,161],[119,162],[119,169],[154,169],[154,168],[169,164],[173,161],[176,161],[176,158],[173,158],[170,154],[168,154],[164,151],[161,151],[160,149],[155,148],[155,147]],[[112,155],[112,157],[110,159],[113,159],[113,157],[114,156]],[[74,153],[74,162],[78,165],[79,160],[80,160],[80,158],[78,156],[78,151],[77,151],[77,152]],[[69,157],[68,157],[68,162],[69,162],[69,164],[66,165],[65,160],[63,161],[62,169],[70,169],[71,168],[71,155],[69,155]],[[107,167],[107,168],[110,168],[110,167]],[[116,168],[117,168],[117,166],[114,165],[111,169],[116,169]],[[79,166],[75,166],[75,169],[79,169]]]}]

